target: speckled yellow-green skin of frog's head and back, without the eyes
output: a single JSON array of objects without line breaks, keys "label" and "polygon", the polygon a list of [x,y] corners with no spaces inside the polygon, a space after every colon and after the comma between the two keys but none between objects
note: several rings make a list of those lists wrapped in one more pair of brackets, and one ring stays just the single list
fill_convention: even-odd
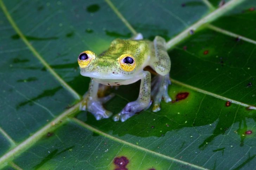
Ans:
[{"label": "speckled yellow-green skin of frog's head and back, without the eyes", "polygon": [[[110,84],[111,86],[117,86],[116,84],[130,84],[120,82],[132,79],[145,67],[145,60],[148,62],[147,59],[151,53],[150,46],[152,46],[152,42],[148,40],[115,39],[111,42],[109,49],[105,53],[96,56],[88,67],[81,68],[81,74],[83,76],[94,78],[97,82],[105,85]],[[126,72],[120,67],[118,59],[122,54],[131,54],[134,57],[136,67],[132,72]],[[118,83],[113,84],[115,82]]]}]

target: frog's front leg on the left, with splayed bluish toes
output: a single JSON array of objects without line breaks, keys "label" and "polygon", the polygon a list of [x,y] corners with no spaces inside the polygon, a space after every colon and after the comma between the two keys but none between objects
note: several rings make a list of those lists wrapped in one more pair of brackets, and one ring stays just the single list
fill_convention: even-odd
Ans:
[{"label": "frog's front leg on the left, with splayed bluish toes", "polygon": [[84,100],[80,105],[80,110],[87,110],[95,116],[96,120],[101,120],[102,118],[109,118],[112,115],[112,112],[103,108],[102,103],[109,101],[114,95],[110,94],[108,96],[98,98],[98,89],[99,83],[91,80],[89,89],[84,95]]}]

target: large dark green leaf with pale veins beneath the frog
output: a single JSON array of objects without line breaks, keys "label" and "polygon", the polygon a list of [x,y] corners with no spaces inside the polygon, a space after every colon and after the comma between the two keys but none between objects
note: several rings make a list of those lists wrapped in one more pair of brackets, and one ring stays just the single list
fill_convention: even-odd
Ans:
[{"label": "large dark green leaf with pale veins beneath the frog", "polygon": [[[219,2],[0,0],[0,168],[255,169],[256,1]],[[173,102],[126,122],[79,111],[77,55],[137,32],[167,40]]]}]

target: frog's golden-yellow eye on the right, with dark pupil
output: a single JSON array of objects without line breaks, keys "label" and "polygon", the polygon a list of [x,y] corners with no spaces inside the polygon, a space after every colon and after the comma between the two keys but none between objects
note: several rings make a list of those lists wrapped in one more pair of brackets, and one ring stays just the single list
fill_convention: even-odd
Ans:
[{"label": "frog's golden-yellow eye on the right, with dark pupil", "polygon": [[132,55],[123,54],[119,57],[119,64],[124,71],[131,72],[135,69],[136,61]]}]

